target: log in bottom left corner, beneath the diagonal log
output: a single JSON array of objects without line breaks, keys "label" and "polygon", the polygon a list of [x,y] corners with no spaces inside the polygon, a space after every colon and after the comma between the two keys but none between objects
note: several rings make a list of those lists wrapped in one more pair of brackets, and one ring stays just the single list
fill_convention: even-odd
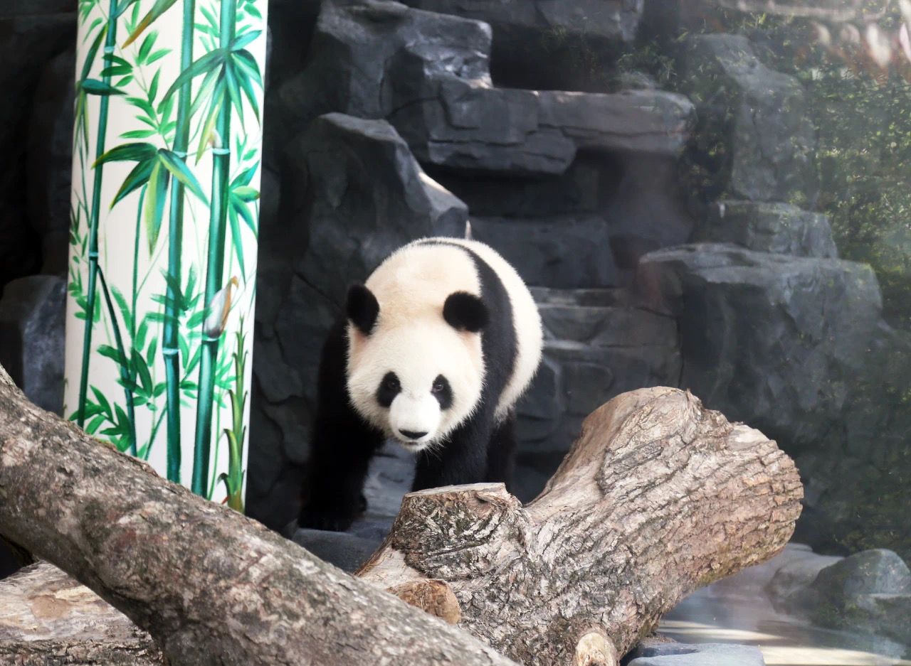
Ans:
[{"label": "log in bottom left corner, beneath the diagonal log", "polygon": [[166,666],[148,633],[85,585],[42,562],[0,581],[0,663]]}]

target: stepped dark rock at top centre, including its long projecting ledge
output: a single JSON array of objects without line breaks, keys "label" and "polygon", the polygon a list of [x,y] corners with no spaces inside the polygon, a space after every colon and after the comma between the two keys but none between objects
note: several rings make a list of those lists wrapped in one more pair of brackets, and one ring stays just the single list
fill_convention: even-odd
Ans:
[{"label": "stepped dark rock at top centre, including its long projecting ledge", "polygon": [[693,109],[654,90],[494,88],[486,24],[380,0],[327,0],[307,68],[281,87],[281,123],[337,111],[386,118],[425,164],[560,174],[577,149],[677,154]]}]

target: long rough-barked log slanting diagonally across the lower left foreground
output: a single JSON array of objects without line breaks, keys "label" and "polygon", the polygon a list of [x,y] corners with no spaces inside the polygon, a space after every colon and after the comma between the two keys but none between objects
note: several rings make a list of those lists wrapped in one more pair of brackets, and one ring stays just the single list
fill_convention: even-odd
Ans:
[{"label": "long rough-barked log slanting diagonally across the lower left foreground", "polygon": [[512,664],[98,444],[28,402],[2,368],[0,533],[123,611],[171,666]]}]

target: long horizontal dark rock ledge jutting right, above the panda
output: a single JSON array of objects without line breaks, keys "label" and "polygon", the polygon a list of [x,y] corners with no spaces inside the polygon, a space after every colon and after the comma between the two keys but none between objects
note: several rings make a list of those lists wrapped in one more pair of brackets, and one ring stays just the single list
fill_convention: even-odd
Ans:
[{"label": "long horizontal dark rock ledge jutting right, above the panda", "polygon": [[560,174],[583,149],[676,155],[692,114],[685,97],[661,91],[535,92],[441,75],[428,79],[415,98],[403,99],[389,119],[422,162]]}]

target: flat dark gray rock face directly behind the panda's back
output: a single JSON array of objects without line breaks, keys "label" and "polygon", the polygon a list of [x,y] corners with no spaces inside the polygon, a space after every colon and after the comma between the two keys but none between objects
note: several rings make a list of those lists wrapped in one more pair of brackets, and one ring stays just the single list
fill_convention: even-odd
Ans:
[{"label": "flat dark gray rock face directly behind the panda's back", "polygon": [[601,217],[472,217],[472,237],[496,249],[529,285],[610,287],[618,282]]}]

